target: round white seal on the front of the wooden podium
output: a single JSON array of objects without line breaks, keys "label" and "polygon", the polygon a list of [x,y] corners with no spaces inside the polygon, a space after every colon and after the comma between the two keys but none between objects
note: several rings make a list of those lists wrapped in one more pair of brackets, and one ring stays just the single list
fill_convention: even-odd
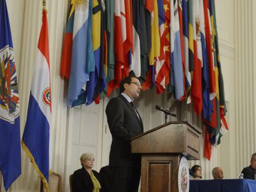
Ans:
[{"label": "round white seal on the front of the wooden podium", "polygon": [[186,157],[179,161],[178,188],[179,192],[189,192],[189,164]]}]

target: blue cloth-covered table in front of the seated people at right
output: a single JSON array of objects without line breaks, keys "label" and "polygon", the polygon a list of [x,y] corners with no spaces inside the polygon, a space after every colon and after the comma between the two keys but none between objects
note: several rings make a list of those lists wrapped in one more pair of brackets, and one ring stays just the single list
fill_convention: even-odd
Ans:
[{"label": "blue cloth-covered table in front of the seated people at right", "polygon": [[189,192],[256,192],[256,181],[249,179],[190,180]]}]

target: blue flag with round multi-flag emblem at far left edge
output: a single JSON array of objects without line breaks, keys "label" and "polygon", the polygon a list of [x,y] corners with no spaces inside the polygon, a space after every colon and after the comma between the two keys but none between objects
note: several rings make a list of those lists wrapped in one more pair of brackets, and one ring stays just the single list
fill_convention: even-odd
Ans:
[{"label": "blue flag with round multi-flag emblem at far left edge", "polygon": [[6,1],[0,0],[0,171],[6,191],[21,173],[19,116],[14,46]]}]

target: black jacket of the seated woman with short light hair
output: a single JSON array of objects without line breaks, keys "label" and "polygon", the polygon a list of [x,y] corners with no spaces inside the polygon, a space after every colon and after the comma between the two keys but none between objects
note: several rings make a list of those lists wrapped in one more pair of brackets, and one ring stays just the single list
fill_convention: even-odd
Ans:
[{"label": "black jacket of the seated woman with short light hair", "polygon": [[[97,178],[101,185],[101,178],[98,172],[93,171],[93,175]],[[85,168],[78,169],[74,172],[72,179],[72,191],[73,192],[92,192],[93,191],[93,182],[89,173]],[[101,186],[102,191],[102,186]]]}]

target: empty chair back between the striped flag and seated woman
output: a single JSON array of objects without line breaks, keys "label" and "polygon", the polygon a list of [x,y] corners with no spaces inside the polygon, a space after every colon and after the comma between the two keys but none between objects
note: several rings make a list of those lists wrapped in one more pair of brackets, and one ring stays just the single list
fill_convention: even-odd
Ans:
[{"label": "empty chair back between the striped flag and seated woman", "polygon": [[[61,175],[58,173],[49,173],[48,182],[49,192],[61,192]],[[45,192],[46,189],[43,187],[43,182],[41,182],[40,192]]]}]

